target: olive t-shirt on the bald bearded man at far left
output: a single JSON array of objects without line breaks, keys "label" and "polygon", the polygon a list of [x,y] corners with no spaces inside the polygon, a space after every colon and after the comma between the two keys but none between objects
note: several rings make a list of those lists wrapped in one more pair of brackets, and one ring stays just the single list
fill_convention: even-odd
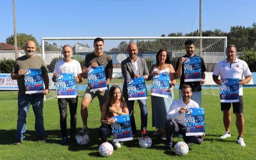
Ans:
[{"label": "olive t-shirt on the bald bearded man at far left", "polygon": [[[20,69],[42,69],[42,74],[48,73],[48,69],[44,63],[44,59],[38,55],[34,57],[21,56],[17,58],[14,62],[12,73],[17,74]],[[18,80],[18,95],[26,95],[25,93],[25,80],[24,75],[22,75]]]}]

